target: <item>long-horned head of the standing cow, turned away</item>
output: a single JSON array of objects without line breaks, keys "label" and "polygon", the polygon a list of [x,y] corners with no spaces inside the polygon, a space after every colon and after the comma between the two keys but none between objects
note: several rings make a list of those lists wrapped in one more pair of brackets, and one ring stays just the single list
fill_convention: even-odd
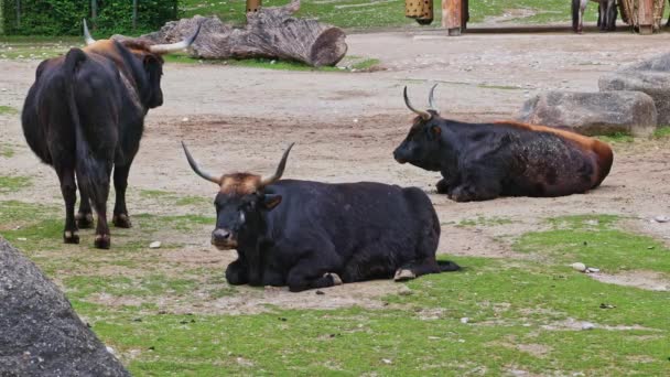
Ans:
[{"label": "long-horned head of the standing cow, turned away", "polygon": [[[163,105],[163,90],[161,89],[161,77],[163,76],[163,57],[162,55],[171,52],[177,52],[188,49],[195,41],[201,31],[201,24],[197,25],[195,32],[185,40],[171,44],[150,44],[147,41],[122,39],[117,40],[123,45],[132,56],[137,60],[137,66],[143,72],[142,77],[137,77],[136,82],[142,105],[147,108],[155,108]],[[86,45],[95,45],[96,40],[93,39],[88,31],[86,20],[84,20],[84,39]],[[108,41],[108,43],[111,41]],[[100,50],[109,49],[106,45],[100,46]],[[95,50],[94,50],[95,51]],[[126,52],[121,52],[123,54]],[[127,54],[127,53],[126,53]]]}]

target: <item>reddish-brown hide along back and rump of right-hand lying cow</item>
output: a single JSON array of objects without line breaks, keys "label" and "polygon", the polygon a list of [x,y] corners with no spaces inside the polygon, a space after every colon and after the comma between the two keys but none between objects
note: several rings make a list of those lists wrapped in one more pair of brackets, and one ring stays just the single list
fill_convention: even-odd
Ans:
[{"label": "reddish-brown hide along back and rump of right-hand lying cow", "polygon": [[597,184],[599,184],[605,179],[605,176],[607,176],[607,174],[609,173],[609,169],[612,168],[612,162],[614,160],[614,153],[612,152],[612,148],[609,148],[608,144],[597,139],[585,137],[576,132],[556,129],[553,127],[528,125],[511,120],[495,121],[494,125],[510,126],[534,132],[553,133],[562,139],[572,141],[577,148],[580,148],[584,152],[595,153],[595,155],[597,157]]}]

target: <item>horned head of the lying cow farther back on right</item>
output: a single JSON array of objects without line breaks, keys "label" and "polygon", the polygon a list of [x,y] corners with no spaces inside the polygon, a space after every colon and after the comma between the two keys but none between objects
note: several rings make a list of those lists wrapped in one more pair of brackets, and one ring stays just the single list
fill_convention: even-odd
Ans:
[{"label": "horned head of the lying cow farther back on right", "polygon": [[418,110],[410,103],[404,87],[404,104],[418,116],[407,138],[393,151],[393,158],[399,163],[411,163],[425,170],[440,170],[437,154],[441,148],[442,118],[435,110],[434,91],[437,85],[433,85],[429,95],[428,110]]}]

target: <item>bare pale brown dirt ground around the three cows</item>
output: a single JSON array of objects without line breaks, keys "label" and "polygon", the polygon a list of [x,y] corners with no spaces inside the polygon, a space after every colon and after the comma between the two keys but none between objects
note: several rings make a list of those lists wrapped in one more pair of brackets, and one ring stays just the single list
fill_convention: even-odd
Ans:
[{"label": "bare pale brown dirt ground around the three cows", "polygon": [[[209,197],[215,187],[192,173],[180,140],[187,141],[202,165],[212,171],[258,173],[273,171],[281,151],[295,141],[284,177],[369,180],[415,185],[429,192],[444,224],[442,254],[518,257],[510,249],[511,240],[544,227],[542,219],[592,213],[628,216],[631,229],[670,244],[670,225],[650,222],[653,216],[670,215],[670,146],[661,141],[636,140],[615,146],[612,173],[602,187],[584,195],[466,204],[435,193],[437,173],[399,165],[391,157],[410,125],[411,114],[402,100],[406,85],[414,105],[421,106],[426,104],[430,86],[440,83],[436,99],[444,117],[469,121],[506,119],[527,98],[542,90],[595,91],[601,74],[667,52],[662,46],[669,40],[668,33],[461,37],[446,37],[441,32],[372,33],[349,35],[349,54],[379,58],[385,71],[317,73],[168,64],[162,85],[165,105],[150,111],[147,118],[130,185]],[[1,105],[21,108],[37,64],[0,61]],[[14,158],[0,159],[0,173],[35,176],[31,188],[14,196],[60,204],[56,176],[24,147],[18,116],[0,116],[0,140],[20,146]],[[173,211],[139,208],[132,202],[129,206],[131,216],[140,211]],[[214,208],[209,211],[207,215],[214,215]],[[456,226],[479,217],[510,222]],[[187,240],[188,247],[166,258],[186,263],[220,263],[223,269],[235,257],[234,252],[209,247],[207,229],[175,237]],[[249,305],[264,303],[291,308],[377,305],[375,297],[401,288],[391,282],[341,287],[309,302],[304,298],[313,298],[314,293],[267,290],[253,300],[223,298],[205,305],[225,312],[252,310]],[[258,291],[250,294],[259,295]]]}]

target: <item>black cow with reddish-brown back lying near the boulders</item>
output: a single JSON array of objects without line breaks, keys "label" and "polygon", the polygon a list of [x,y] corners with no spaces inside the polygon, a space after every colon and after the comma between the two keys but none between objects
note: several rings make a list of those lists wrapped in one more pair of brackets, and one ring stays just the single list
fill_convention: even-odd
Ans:
[{"label": "black cow with reddish-brown back lying near the boulders", "polygon": [[400,163],[441,172],[437,192],[456,202],[498,196],[562,196],[597,187],[609,173],[606,143],[566,130],[517,122],[465,123],[440,117],[431,89],[393,152]]}]

